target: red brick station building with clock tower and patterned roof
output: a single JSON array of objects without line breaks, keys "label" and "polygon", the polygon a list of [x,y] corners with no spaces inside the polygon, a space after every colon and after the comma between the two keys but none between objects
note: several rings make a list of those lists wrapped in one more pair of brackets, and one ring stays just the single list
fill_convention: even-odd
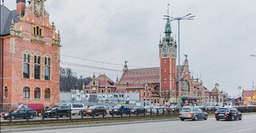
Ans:
[{"label": "red brick station building with clock tower and patterned roof", "polygon": [[[194,93],[194,82],[189,71],[187,56],[183,65],[177,66],[177,42],[171,36],[170,20],[167,18],[164,28],[165,36],[160,38],[158,44],[160,67],[129,69],[127,62],[123,67],[120,81],[114,83],[106,75],[94,78],[84,88],[85,93],[139,93],[141,101],[150,103],[178,103],[179,81],[181,77],[182,103],[197,103],[199,97]],[[180,70],[180,73],[178,73]],[[104,79],[102,79],[104,77]],[[102,91],[103,89],[103,91]],[[148,102],[147,102],[148,103]]]}]

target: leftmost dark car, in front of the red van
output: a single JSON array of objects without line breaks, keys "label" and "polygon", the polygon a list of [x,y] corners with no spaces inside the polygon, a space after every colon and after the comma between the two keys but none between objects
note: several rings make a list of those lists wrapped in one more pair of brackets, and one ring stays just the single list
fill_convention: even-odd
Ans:
[{"label": "leftmost dark car, in front of the red van", "polygon": [[3,112],[1,115],[5,120],[7,120],[8,118],[11,118],[12,120],[16,118],[33,119],[34,116],[36,116],[36,111],[30,108],[22,107],[22,108],[17,108],[15,110],[11,110],[10,112]]}]

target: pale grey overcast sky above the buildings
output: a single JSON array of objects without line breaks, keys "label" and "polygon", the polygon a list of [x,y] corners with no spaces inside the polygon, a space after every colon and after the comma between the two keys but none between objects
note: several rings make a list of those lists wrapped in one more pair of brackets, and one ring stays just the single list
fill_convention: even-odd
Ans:
[{"label": "pale grey overcast sky above the buildings", "polygon": [[[13,10],[15,2],[5,0],[5,6]],[[256,55],[255,0],[47,0],[45,9],[61,33],[61,63],[118,71],[61,67],[84,77],[105,73],[113,81],[121,77],[125,60],[129,69],[159,67],[167,3],[172,17],[196,15],[180,21],[181,64],[187,54],[195,78],[201,75],[210,91],[219,83],[232,96],[238,95],[238,86],[252,90],[253,81],[256,86],[256,56],[250,56]],[[178,38],[178,22],[171,21],[171,27]]]}]

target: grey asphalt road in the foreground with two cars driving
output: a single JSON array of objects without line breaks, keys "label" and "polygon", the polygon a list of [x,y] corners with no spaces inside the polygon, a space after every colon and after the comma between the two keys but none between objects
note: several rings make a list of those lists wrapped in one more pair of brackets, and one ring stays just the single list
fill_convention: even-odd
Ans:
[{"label": "grey asphalt road in the foreground with two cars driving", "polygon": [[216,121],[215,118],[208,118],[208,120],[176,120],[165,122],[138,122],[136,124],[121,124],[108,126],[94,126],[87,128],[67,128],[56,130],[36,130],[26,131],[29,133],[49,133],[49,132],[61,132],[61,133],[170,133],[170,132],[205,132],[205,133],[236,133],[256,132],[256,114],[244,115],[243,120]]}]

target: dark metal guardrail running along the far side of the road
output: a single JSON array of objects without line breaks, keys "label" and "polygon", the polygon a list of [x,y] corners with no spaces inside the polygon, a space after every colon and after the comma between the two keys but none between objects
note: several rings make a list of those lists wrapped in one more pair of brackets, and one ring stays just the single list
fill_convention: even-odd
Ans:
[{"label": "dark metal guardrail running along the far side of the road", "polygon": [[[256,112],[256,107],[236,107],[236,109],[238,109],[238,111],[245,113],[245,112]],[[172,109],[143,109],[143,113],[137,113],[137,114],[131,114],[131,109],[129,109],[129,113],[127,112],[123,112],[121,110],[121,114],[109,114],[109,111],[107,112],[106,115],[102,115],[102,114],[94,114],[94,112],[96,112],[95,109],[92,110],[92,115],[88,116],[88,115],[72,115],[71,111],[81,111],[81,112],[86,112],[86,110],[88,109],[67,109],[66,113],[68,114],[58,114],[59,112],[56,110],[55,116],[47,116],[45,117],[45,114],[47,112],[47,110],[44,110],[42,112],[42,116],[40,117],[30,117],[30,112],[26,112],[26,114],[24,114],[24,116],[22,116],[21,118],[18,117],[12,117],[14,112],[13,111],[7,111],[7,112],[1,112],[1,125],[2,124],[6,124],[6,123],[13,123],[13,122],[53,122],[53,121],[59,121],[62,122],[63,120],[99,120],[99,119],[122,119],[122,118],[150,118],[150,117],[165,117],[165,116],[178,116],[179,115],[179,111],[177,110],[172,110]],[[115,109],[111,109],[112,112],[115,111]],[[136,110],[138,112],[138,109]],[[205,110],[205,112],[207,112],[208,114],[214,114],[216,112],[216,109],[210,109],[210,110]],[[3,116],[5,114],[8,114],[7,119],[3,119]],[[65,116],[65,117],[63,117]]]}]

